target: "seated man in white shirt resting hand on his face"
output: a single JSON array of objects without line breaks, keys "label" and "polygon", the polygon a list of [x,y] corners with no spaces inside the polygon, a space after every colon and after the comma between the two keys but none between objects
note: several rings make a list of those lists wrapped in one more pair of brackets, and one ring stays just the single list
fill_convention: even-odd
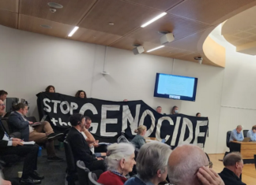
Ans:
[{"label": "seated man in white shirt resting hand on his face", "polygon": [[99,140],[95,140],[93,135],[88,131],[88,129],[91,127],[92,120],[90,117],[85,117],[85,128],[82,128],[81,134],[85,137],[86,142],[88,143],[88,146],[90,147],[90,150],[92,151],[92,154],[94,154],[96,157],[103,157],[106,156],[106,153],[95,153],[94,148],[99,146]]}]

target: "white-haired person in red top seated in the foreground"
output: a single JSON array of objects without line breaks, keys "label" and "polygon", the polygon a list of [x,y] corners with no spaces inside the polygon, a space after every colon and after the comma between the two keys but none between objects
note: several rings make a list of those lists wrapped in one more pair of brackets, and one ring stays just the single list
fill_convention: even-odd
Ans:
[{"label": "white-haired person in red top seated in the foreground", "polygon": [[123,185],[126,175],[132,172],[134,165],[134,146],[130,143],[115,143],[107,147],[107,172],[100,175],[98,183],[104,185]]}]

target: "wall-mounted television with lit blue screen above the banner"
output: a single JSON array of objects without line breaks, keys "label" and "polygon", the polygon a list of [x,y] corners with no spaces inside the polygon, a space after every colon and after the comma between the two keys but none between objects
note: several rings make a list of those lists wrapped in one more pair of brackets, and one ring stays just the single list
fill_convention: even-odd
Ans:
[{"label": "wall-mounted television with lit blue screen above the banner", "polygon": [[156,73],[154,97],[195,101],[198,78]]}]

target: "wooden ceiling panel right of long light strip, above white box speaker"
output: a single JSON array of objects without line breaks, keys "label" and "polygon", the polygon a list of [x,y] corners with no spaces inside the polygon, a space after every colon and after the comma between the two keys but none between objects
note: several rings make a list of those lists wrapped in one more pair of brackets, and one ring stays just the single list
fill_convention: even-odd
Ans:
[{"label": "wooden ceiling panel right of long light strip, above white box speaker", "polygon": [[151,43],[160,43],[162,34],[159,34],[158,31],[170,31],[175,35],[175,40],[178,40],[208,27],[208,24],[166,15],[145,28],[139,28],[128,36]]}]

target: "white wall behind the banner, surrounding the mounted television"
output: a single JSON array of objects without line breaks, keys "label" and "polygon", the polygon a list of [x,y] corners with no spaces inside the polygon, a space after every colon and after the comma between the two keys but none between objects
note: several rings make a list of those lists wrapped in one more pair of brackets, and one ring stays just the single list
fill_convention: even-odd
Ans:
[{"label": "white wall behind the banner, surrounding the mounted television", "polygon": [[[173,65],[171,58],[134,56],[131,51],[108,47],[105,71],[110,75],[103,76],[104,54],[104,46],[0,26],[0,89],[8,91],[9,97],[27,99],[32,115],[37,115],[36,94],[50,84],[62,94],[85,90],[92,98],[142,99],[153,108],[161,105],[164,113],[178,105],[181,113],[201,112],[209,117],[205,151],[216,153],[224,68],[179,60]],[[198,77],[196,102],[154,98],[156,72]]]}]

